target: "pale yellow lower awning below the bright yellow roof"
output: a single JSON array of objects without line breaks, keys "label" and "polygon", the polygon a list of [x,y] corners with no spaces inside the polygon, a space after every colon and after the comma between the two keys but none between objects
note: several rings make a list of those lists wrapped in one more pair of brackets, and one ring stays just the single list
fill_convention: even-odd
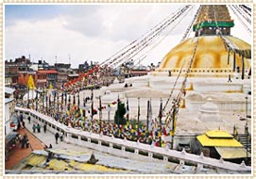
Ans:
[{"label": "pale yellow lower awning below the bright yellow roof", "polygon": [[223,159],[250,157],[250,154],[243,147],[215,147],[215,149]]}]

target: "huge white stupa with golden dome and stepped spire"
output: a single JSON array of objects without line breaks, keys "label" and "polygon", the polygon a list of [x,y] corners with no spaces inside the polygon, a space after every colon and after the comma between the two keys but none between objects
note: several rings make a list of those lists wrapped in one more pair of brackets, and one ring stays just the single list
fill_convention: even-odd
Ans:
[{"label": "huge white stupa with golden dome and stepped spire", "polygon": [[[231,36],[232,26],[234,23],[226,6],[203,5],[193,27],[194,38],[182,41],[171,49],[163,57],[160,68],[155,72],[145,76],[130,77],[125,79],[124,83],[116,83],[107,89],[100,89],[98,94],[102,96],[102,103],[104,103],[104,95],[106,95],[105,103],[109,102],[106,90],[123,94],[125,98],[121,101],[125,104],[128,101],[129,120],[139,119],[146,122],[147,100],[151,99],[152,116],[158,119],[161,99],[164,105],[171,91],[173,91],[172,98],[179,93],[198,40],[196,56],[186,81],[186,94],[183,96],[182,106],[179,107],[175,146],[179,143],[179,139],[190,142],[191,136],[215,130],[219,126],[230,134],[234,125],[240,126],[238,132],[244,133],[245,121],[240,119],[246,115],[246,108],[247,113],[250,112],[251,102],[249,98],[246,101],[245,97],[247,91],[251,89],[248,75],[251,46],[246,41]],[[224,41],[226,43],[228,41],[236,50],[229,49]],[[181,76],[176,83],[183,63]],[[125,88],[126,83],[132,84],[132,87]],[[175,88],[174,84],[177,84]],[[213,107],[207,104],[209,98],[212,99]],[[114,97],[112,99],[116,100]],[[162,120],[171,108],[171,103],[169,104],[165,108]],[[116,106],[111,107],[111,118],[115,110]],[[207,110],[203,118],[198,118],[200,110],[202,112]],[[107,116],[108,111],[103,111],[103,120],[107,121]],[[250,125],[250,121],[248,124]],[[188,136],[186,138],[188,140],[184,139],[184,136]]]}]

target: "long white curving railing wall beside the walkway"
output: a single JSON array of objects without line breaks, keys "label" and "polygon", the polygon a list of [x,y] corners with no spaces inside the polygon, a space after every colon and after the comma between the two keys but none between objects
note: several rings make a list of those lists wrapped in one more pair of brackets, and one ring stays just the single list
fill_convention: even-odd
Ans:
[{"label": "long white curving railing wall beside the walkway", "polygon": [[167,146],[161,148],[154,145],[129,141],[126,138],[121,139],[104,136],[102,134],[94,134],[66,126],[33,109],[16,106],[15,110],[32,116],[40,124],[46,122],[49,126],[47,130],[52,133],[56,133],[56,131],[64,132],[63,140],[66,143],[92,148],[111,155],[119,155],[129,158],[144,155],[149,158],[160,158],[165,162],[179,161],[179,164],[181,165],[185,163],[194,164],[197,166],[197,170],[201,170],[203,167],[213,167],[215,169],[223,169],[228,171],[251,172],[251,167],[246,166],[244,162],[242,162],[242,164],[235,164],[224,161],[222,158],[214,159],[205,157],[203,155],[188,154],[184,150],[181,152],[170,150]]}]

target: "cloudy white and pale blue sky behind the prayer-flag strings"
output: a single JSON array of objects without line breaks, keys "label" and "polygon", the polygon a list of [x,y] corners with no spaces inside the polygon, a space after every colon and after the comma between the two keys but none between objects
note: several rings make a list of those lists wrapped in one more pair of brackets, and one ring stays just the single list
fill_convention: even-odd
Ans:
[{"label": "cloudy white and pale blue sky behind the prayer-flag strings", "polygon": [[[195,5],[172,33],[150,51],[145,64],[157,64],[179,43],[196,12],[198,5]],[[69,62],[70,56],[74,68],[85,60],[103,61],[141,37],[180,6],[171,3],[6,5],[5,58],[30,55],[33,61],[43,58],[53,64],[56,56],[58,62]],[[235,24],[239,26],[238,21]],[[238,38],[250,38],[241,28],[235,34]]]}]

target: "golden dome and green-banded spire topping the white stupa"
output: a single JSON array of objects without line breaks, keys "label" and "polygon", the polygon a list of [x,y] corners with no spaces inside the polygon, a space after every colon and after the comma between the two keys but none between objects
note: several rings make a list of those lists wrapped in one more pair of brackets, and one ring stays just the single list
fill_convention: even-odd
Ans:
[{"label": "golden dome and green-banded spire topping the white stupa", "polygon": [[[171,49],[154,74],[166,75],[171,72],[176,75],[182,67],[181,73],[186,73],[199,38],[190,76],[245,77],[244,74],[247,75],[250,68],[250,56],[247,55],[250,53],[247,52],[250,52],[251,46],[246,41],[231,36],[230,28],[233,26],[234,22],[225,5],[202,5],[193,25],[195,38],[182,41]],[[235,46],[235,51],[229,52],[224,38]]]}]

